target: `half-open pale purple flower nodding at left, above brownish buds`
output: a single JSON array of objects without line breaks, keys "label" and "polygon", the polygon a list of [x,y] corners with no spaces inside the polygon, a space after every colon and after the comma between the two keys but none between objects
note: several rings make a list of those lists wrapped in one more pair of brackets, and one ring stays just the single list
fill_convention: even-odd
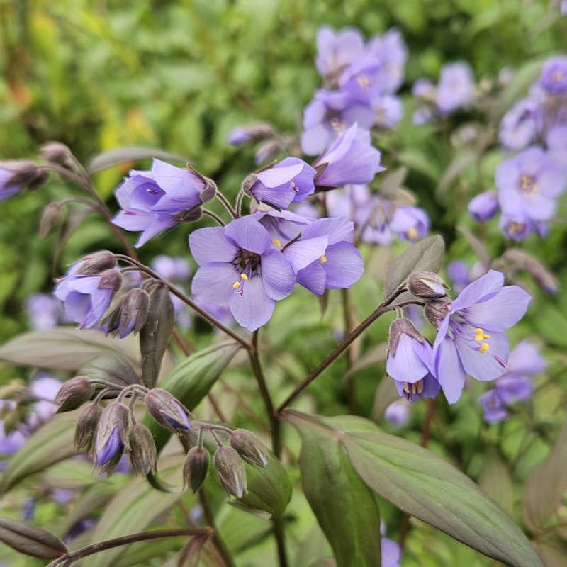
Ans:
[{"label": "half-open pale purple flower nodding at left, above brownish buds", "polygon": [[122,278],[116,269],[108,269],[96,276],[76,275],[74,264],[67,276],[55,287],[55,296],[64,301],[67,317],[79,323],[79,328],[96,326],[108,309],[114,293],[120,288]]}]

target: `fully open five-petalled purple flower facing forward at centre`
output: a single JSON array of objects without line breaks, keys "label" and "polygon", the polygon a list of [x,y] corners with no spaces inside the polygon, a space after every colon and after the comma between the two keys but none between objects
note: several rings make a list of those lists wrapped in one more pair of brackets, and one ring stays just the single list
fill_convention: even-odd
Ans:
[{"label": "fully open five-petalled purple flower facing forward at centre", "polygon": [[287,297],[296,284],[291,264],[254,218],[195,230],[189,246],[200,266],[193,294],[200,301],[228,305],[238,324],[251,331],[271,318],[275,301]]}]

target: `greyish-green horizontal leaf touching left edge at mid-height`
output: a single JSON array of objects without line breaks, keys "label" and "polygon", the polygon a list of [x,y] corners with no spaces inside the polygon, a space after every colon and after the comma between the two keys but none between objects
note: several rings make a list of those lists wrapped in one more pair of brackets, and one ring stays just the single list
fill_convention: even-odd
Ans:
[{"label": "greyish-green horizontal leaf touching left edge at mid-height", "polygon": [[107,354],[125,358],[140,368],[134,337],[114,339],[101,331],[56,327],[26,332],[0,347],[0,360],[19,366],[77,371],[91,359]]}]

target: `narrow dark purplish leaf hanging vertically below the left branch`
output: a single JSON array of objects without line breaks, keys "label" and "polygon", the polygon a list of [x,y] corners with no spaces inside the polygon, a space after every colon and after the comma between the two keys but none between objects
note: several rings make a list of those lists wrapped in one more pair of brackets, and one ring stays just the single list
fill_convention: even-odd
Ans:
[{"label": "narrow dark purplish leaf hanging vertically below the left branch", "polygon": [[150,292],[150,310],[140,330],[140,352],[142,353],[142,384],[153,388],[162,367],[174,326],[172,298],[166,286],[155,286]]}]

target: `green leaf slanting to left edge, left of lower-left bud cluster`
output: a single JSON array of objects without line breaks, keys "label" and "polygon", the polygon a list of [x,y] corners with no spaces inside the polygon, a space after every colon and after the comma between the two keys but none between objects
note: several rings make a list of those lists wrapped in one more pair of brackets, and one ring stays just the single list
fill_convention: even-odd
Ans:
[{"label": "green leaf slanting to left edge, left of lower-left bud cluster", "polygon": [[34,432],[11,457],[0,478],[0,493],[6,492],[26,476],[74,455],[76,420],[77,411],[60,413]]}]

